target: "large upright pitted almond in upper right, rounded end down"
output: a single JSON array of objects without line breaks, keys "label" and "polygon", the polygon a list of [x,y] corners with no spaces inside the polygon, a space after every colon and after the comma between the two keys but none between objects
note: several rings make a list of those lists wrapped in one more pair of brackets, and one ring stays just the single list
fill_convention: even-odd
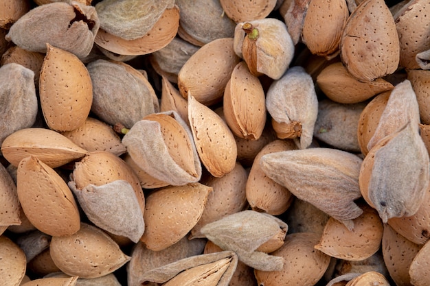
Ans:
[{"label": "large upright pitted almond in upper right, rounded end down", "polygon": [[396,24],[383,0],[363,1],[352,12],[340,50],[348,71],[363,82],[396,71],[400,54]]}]

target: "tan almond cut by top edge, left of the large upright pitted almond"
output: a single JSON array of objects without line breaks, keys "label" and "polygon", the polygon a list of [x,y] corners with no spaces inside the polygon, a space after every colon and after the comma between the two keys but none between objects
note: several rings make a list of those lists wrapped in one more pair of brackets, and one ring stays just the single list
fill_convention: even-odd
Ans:
[{"label": "tan almond cut by top edge, left of the large upright pitted almond", "polygon": [[310,1],[304,17],[302,41],[311,53],[328,60],[339,53],[343,26],[350,16],[345,0]]}]

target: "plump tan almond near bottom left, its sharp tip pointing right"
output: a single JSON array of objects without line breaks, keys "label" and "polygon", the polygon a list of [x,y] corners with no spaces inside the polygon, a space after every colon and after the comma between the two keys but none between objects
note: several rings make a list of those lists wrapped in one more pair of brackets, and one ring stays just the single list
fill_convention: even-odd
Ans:
[{"label": "plump tan almond near bottom left, its sharp tip pointing right", "polygon": [[84,223],[73,235],[52,237],[49,250],[52,260],[61,271],[80,278],[110,274],[131,259],[109,235]]}]

